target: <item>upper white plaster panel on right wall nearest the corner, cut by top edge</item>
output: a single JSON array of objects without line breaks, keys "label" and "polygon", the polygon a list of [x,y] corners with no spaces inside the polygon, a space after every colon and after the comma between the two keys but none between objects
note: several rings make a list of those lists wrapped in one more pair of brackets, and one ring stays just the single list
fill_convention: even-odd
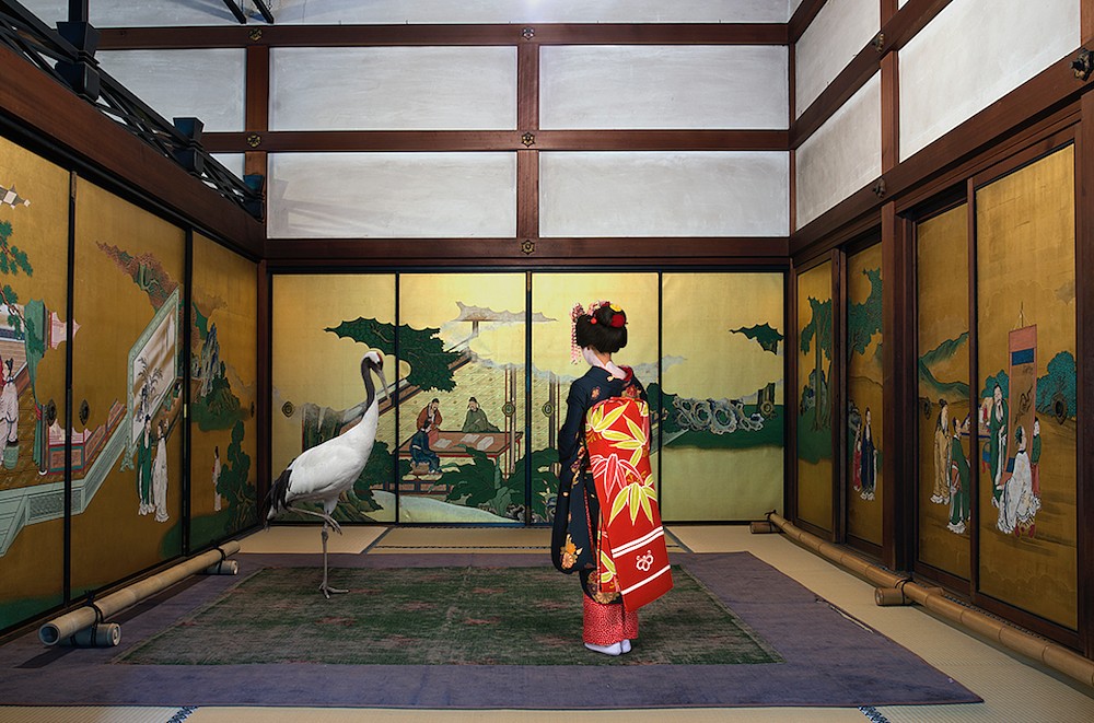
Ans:
[{"label": "upper white plaster panel on right wall nearest the corner, cut by top edge", "polygon": [[881,28],[877,0],[828,0],[794,50],[794,113],[813,101]]}]

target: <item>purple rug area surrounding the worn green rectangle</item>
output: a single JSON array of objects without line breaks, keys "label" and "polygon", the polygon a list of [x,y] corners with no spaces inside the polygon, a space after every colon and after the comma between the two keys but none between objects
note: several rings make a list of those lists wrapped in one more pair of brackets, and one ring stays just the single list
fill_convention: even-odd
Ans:
[{"label": "purple rug area surrounding the worn green rectangle", "polygon": [[[238,557],[242,573],[317,555]],[[526,567],[533,555],[337,555],[335,568]],[[964,686],[747,552],[674,555],[785,661],[738,665],[131,665],[116,661],[238,579],[195,578],[116,616],[121,645],[0,648],[0,704],[439,709],[873,707],[979,702]],[[578,595],[574,581],[574,595]],[[382,605],[382,600],[377,600]],[[574,641],[579,646],[580,641]],[[590,653],[593,654],[593,653]],[[581,685],[595,679],[595,685]]]}]

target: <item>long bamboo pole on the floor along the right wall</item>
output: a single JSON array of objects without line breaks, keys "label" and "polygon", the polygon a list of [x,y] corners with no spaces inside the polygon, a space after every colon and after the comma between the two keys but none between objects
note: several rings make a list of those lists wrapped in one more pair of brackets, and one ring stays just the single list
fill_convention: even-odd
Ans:
[{"label": "long bamboo pole on the floor along the right wall", "polygon": [[[886,602],[892,603],[892,595],[888,594],[888,591],[899,591],[901,602],[918,603],[940,617],[979,633],[1008,650],[1038,661],[1083,685],[1094,687],[1094,661],[1062,645],[1017,630],[979,610],[955,603],[947,598],[940,587],[919,585],[907,575],[897,575],[866,562],[838,545],[833,545],[795,527],[775,512],[769,512],[767,520],[803,547],[858,573],[872,583],[881,585],[875,591],[874,596],[878,605],[884,604],[883,597],[888,597]],[[883,593],[883,591],[885,592]]]}]

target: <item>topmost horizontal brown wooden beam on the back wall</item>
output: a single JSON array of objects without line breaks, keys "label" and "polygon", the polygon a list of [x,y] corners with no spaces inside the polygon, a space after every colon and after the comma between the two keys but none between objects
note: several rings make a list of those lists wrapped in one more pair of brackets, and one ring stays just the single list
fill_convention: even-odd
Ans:
[{"label": "topmost horizontal brown wooden beam on the back wall", "polygon": [[[531,28],[531,37],[525,37]],[[101,28],[103,50],[492,45],[787,45],[782,23],[516,23]]]}]

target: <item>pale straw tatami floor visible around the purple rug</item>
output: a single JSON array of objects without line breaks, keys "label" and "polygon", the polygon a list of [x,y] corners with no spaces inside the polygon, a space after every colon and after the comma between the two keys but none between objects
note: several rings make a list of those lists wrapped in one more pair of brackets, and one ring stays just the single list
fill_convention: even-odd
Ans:
[{"label": "pale straw tatami floor visible around the purple rug", "polygon": [[[437,711],[291,708],[15,708],[0,707],[0,723],[49,721],[81,723],[348,723],[399,721],[418,723],[713,723],[798,722],[861,723],[1055,723],[1094,720],[1094,690],[1062,675],[969,635],[920,607],[877,607],[873,585],[842,571],[782,535],[753,535],[747,526],[677,526],[670,530],[670,549],[694,552],[748,551],[796,580],[851,617],[913,651],[977,695],[984,703],[903,705],[857,709],[677,709],[621,711]],[[331,552],[528,552],[545,555],[550,533],[545,528],[498,527],[346,527],[330,536]],[[678,540],[678,544],[677,544]],[[245,552],[317,552],[315,526],[278,526],[242,540]],[[655,670],[651,670],[655,673]],[[501,684],[501,681],[499,681]],[[565,699],[560,699],[565,704]]]}]

